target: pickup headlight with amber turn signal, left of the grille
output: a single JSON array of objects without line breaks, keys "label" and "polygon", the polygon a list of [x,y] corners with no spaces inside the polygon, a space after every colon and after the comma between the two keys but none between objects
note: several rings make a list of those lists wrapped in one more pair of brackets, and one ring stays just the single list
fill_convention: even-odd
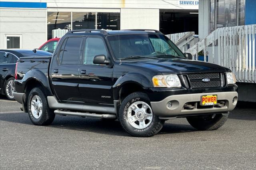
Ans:
[{"label": "pickup headlight with amber turn signal, left of the grille", "polygon": [[178,75],[156,75],[152,78],[154,87],[181,87]]}]

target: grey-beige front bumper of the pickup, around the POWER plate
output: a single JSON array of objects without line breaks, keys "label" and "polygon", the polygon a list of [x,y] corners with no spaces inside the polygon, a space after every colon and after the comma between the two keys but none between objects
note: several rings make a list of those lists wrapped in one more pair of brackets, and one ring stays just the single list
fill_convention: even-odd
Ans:
[{"label": "grey-beige front bumper of the pickup, around the POWER plate", "polygon": [[[225,102],[224,106],[201,107],[200,100],[202,95],[217,95],[218,102]],[[233,102],[234,99],[234,102]],[[160,117],[179,117],[182,115],[198,115],[204,113],[226,113],[232,111],[236,107],[238,93],[218,92],[218,93],[195,93],[184,95],[171,95],[158,102],[151,102],[151,107],[155,115]],[[168,107],[167,103],[172,101],[172,107]],[[192,104],[194,109],[185,109],[185,105]]]}]

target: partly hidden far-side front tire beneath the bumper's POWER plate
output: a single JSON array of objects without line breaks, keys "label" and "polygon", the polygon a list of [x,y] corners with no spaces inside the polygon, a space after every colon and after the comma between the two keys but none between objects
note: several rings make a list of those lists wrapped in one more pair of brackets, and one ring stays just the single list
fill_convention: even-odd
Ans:
[{"label": "partly hidden far-side front tire beneath the bumper's POWER plate", "polygon": [[197,130],[216,130],[228,119],[228,114],[212,114],[187,117],[188,123]]}]

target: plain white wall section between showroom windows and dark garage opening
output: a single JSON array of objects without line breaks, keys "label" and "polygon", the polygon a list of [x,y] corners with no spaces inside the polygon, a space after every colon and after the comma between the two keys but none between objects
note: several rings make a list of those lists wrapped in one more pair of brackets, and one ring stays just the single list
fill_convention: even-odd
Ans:
[{"label": "plain white wall section between showroom windows and dark garage opening", "polygon": [[159,30],[159,9],[122,8],[120,28]]}]

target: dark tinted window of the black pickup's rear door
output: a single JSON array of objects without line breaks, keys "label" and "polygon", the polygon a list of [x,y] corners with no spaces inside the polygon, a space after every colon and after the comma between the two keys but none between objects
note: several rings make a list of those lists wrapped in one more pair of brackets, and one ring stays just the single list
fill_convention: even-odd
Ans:
[{"label": "dark tinted window of the black pickup's rear door", "polygon": [[[62,64],[78,64],[82,37],[68,38],[62,45],[59,61]],[[64,48],[63,48],[64,47]]]}]

